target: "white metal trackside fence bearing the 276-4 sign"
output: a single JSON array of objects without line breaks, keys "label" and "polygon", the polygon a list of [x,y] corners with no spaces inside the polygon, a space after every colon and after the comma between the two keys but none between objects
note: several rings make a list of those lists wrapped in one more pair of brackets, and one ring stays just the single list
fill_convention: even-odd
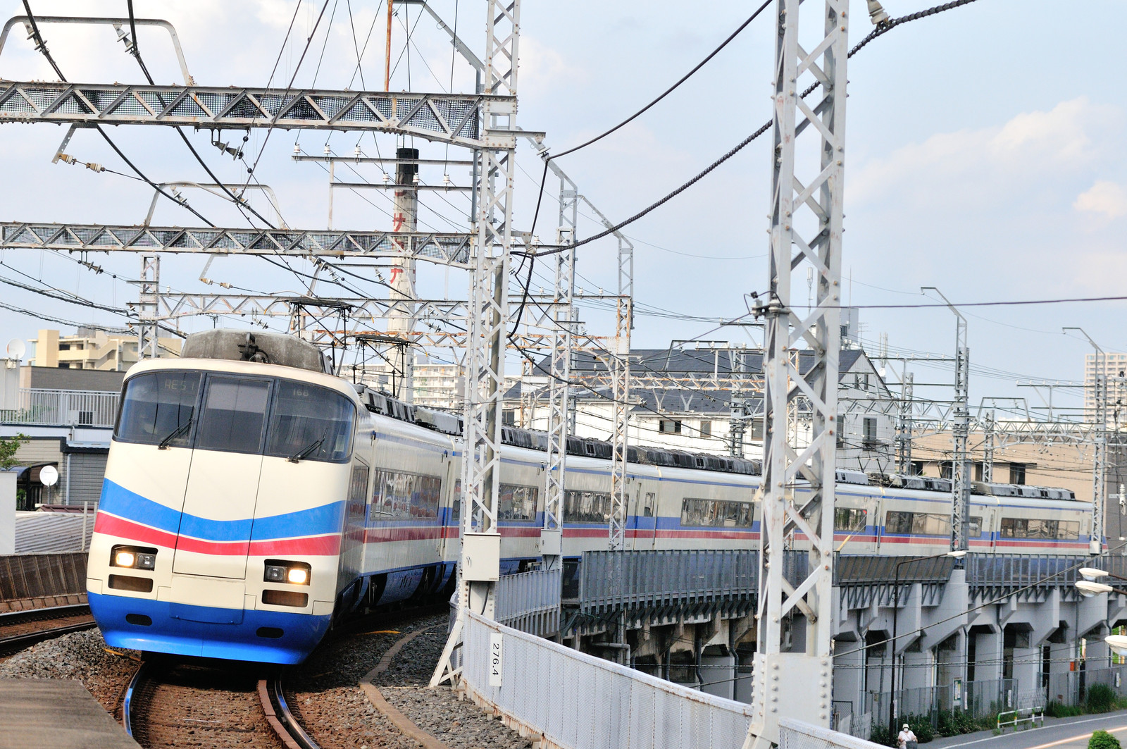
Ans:
[{"label": "white metal trackside fence bearing the 276-4 sign", "polygon": [[[462,685],[470,697],[523,734],[542,738],[544,749],[739,749],[747,735],[751,705],[586,655],[472,611],[465,614],[462,638]],[[498,641],[500,686],[491,686]]]}]

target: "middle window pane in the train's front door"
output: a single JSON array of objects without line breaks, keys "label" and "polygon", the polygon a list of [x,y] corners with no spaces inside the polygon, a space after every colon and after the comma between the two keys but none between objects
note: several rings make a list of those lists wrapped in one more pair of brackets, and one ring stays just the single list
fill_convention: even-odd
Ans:
[{"label": "middle window pane in the train's front door", "polygon": [[270,385],[234,377],[207,378],[196,447],[225,452],[261,452]]}]

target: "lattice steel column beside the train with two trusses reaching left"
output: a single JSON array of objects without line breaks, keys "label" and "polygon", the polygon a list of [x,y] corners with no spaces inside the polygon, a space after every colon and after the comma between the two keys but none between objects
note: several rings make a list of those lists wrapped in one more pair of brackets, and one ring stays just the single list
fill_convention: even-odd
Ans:
[{"label": "lattice steel column beside the train with two trusses reaching left", "polygon": [[[153,258],[166,252],[304,257],[406,255],[469,270],[461,602],[462,610],[472,600],[480,603],[476,608],[491,615],[490,590],[498,576],[500,547],[497,469],[504,333],[508,321],[506,285],[515,233],[512,218],[520,1],[487,0],[486,6],[485,73],[481,86],[472,94],[0,82],[0,123],[367,131],[464,147],[473,152],[478,175],[469,233],[10,223],[0,229],[0,247],[131,250]],[[35,41],[46,54],[38,33]],[[149,291],[157,290],[156,281],[153,262],[142,273],[140,326],[153,333],[153,341],[154,326],[149,325],[149,316],[156,317],[158,301]],[[142,344],[144,340],[142,333]]]}]

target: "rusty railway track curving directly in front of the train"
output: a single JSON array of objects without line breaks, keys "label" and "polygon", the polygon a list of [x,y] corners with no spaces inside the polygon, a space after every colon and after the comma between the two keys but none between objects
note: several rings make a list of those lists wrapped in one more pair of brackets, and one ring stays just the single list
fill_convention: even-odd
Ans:
[{"label": "rusty railway track curving directly in front of the train", "polygon": [[291,713],[279,679],[206,666],[142,663],[125,690],[122,723],[147,749],[319,749]]}]

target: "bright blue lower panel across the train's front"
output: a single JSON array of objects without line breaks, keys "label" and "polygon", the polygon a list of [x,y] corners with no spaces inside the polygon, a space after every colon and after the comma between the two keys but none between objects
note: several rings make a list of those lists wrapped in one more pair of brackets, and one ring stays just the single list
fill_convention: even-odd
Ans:
[{"label": "bright blue lower panel across the train's front", "polygon": [[[105,593],[88,598],[112,647],[259,663],[301,663],[332,619],[330,615],[185,606]],[[125,618],[131,614],[149,617],[152,624],[131,624]]]}]

